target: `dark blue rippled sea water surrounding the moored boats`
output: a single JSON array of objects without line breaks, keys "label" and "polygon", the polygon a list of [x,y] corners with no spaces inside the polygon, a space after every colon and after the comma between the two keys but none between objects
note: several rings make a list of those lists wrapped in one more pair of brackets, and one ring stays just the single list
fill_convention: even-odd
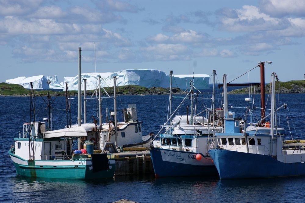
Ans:
[{"label": "dark blue rippled sea water surrounding the moored boats", "polygon": [[[219,91],[217,89],[217,91]],[[168,95],[119,96],[117,106],[136,104],[138,120],[143,121],[142,134],[155,134],[167,120]],[[174,95],[172,112],[184,95]],[[203,95],[196,105],[197,112],[210,108],[209,95]],[[249,104],[249,95],[228,95],[230,111],[236,117],[243,117]],[[288,109],[280,111],[281,127],[285,128],[285,140],[305,139],[305,94],[277,95],[277,105],[288,104]],[[268,96],[266,95],[266,100]],[[48,117],[45,97],[36,97],[36,120]],[[137,202],[304,202],[305,177],[270,179],[219,180],[211,177],[174,177],[155,179],[153,174],[145,176],[120,176],[107,180],[65,180],[36,179],[16,175],[8,150],[13,138],[23,130],[23,123],[29,122],[28,96],[0,96],[0,202],[113,202],[123,198]],[[71,97],[71,121],[77,121],[77,97]],[[221,105],[221,94],[216,95],[215,107]],[[255,95],[255,105],[260,106],[260,96]],[[267,108],[268,108],[267,104]],[[113,99],[103,99],[105,108],[113,108]],[[185,114],[183,106],[178,112]],[[260,112],[260,109],[255,110]],[[286,113],[289,111],[289,115]],[[66,97],[58,96],[52,102],[52,129],[63,128],[67,123]],[[87,122],[96,116],[95,100],[87,102]],[[289,126],[286,118],[292,118]],[[249,116],[247,117],[247,119]],[[103,116],[105,122],[105,115]]]}]

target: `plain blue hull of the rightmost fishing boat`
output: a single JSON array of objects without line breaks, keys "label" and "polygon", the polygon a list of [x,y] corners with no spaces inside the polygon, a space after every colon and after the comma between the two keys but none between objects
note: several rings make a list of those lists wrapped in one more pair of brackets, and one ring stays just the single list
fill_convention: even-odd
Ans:
[{"label": "plain blue hull of the rightmost fishing boat", "polygon": [[270,178],[305,175],[305,163],[283,163],[274,158],[224,149],[209,150],[221,179]]}]

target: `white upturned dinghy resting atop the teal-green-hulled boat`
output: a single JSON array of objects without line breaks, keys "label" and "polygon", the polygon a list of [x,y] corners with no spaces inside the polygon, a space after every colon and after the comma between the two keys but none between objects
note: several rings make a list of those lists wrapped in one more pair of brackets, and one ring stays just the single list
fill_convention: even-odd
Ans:
[{"label": "white upturned dinghy resting atop the teal-green-hulled boat", "polygon": [[87,136],[87,132],[86,129],[82,126],[46,131],[43,134],[43,138],[45,139],[55,138],[55,137],[83,137],[83,136]]}]

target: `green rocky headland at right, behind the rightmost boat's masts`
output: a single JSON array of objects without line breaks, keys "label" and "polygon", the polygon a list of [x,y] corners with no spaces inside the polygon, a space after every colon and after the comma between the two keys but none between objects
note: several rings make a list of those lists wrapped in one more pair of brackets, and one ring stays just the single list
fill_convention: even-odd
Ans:
[{"label": "green rocky headland at right, behind the rightmost boat's masts", "polygon": [[[270,83],[265,85],[265,92],[270,90]],[[260,87],[252,86],[253,93],[260,93]],[[275,82],[276,93],[305,93],[305,80],[291,80],[288,82]],[[248,94],[249,88],[234,89],[228,94]]]}]

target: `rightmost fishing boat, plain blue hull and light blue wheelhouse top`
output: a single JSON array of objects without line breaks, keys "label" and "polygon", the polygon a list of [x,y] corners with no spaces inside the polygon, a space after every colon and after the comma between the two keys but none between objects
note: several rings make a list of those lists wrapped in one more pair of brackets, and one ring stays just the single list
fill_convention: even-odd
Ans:
[{"label": "rightmost fishing boat, plain blue hull and light blue wheelhouse top", "polygon": [[[260,66],[264,67],[264,64],[260,63]],[[263,74],[262,77],[264,78]],[[209,150],[221,179],[305,175],[304,141],[283,141],[284,129],[278,128],[276,124],[277,111],[287,107],[284,103],[275,108],[276,79],[277,75],[272,73],[270,114],[265,116],[262,111],[259,123],[251,123],[246,127],[245,121],[235,118],[234,112],[225,114],[225,131],[216,134],[218,145]],[[261,89],[261,95],[264,95],[264,88]],[[224,94],[226,95],[226,92]],[[265,110],[264,107],[262,109]],[[270,118],[270,122],[264,121],[267,118]]]}]

